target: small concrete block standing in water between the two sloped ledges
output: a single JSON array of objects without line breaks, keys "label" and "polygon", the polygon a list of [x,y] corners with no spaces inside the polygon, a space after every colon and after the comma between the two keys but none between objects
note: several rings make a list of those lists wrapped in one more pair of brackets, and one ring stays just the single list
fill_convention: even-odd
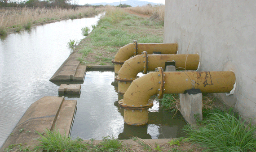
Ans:
[{"label": "small concrete block standing in water between the two sloped ledges", "polygon": [[81,84],[61,84],[59,94],[80,94]]}]

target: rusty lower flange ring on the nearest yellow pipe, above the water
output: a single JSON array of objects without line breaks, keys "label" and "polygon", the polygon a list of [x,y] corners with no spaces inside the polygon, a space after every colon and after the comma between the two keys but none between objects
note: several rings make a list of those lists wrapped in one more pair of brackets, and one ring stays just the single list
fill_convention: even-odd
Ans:
[{"label": "rusty lower flange ring on the nearest yellow pipe, above the water", "polygon": [[149,100],[146,105],[135,106],[135,105],[127,105],[126,103],[124,103],[124,99],[122,99],[118,101],[118,105],[119,107],[128,109],[128,110],[146,110],[153,106],[153,101]]}]

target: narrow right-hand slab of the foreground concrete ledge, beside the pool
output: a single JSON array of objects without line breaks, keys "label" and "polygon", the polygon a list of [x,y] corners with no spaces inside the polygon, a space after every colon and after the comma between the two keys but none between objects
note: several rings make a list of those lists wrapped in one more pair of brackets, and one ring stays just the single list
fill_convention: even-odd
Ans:
[{"label": "narrow right-hand slab of the foreground concrete ledge, beside the pool", "polygon": [[58,114],[54,129],[62,135],[69,135],[76,110],[76,100],[65,100]]}]

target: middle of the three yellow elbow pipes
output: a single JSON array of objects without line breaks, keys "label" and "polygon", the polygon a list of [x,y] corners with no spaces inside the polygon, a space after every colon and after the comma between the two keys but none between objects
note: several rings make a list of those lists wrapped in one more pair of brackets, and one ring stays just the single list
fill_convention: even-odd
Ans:
[{"label": "middle of the three yellow elbow pipes", "polygon": [[177,70],[196,70],[199,66],[199,55],[147,55],[147,52],[143,51],[142,55],[126,60],[118,76],[115,76],[115,80],[118,81],[118,92],[125,93],[139,72],[146,74],[157,67],[164,69],[165,62],[168,61],[175,61]]}]

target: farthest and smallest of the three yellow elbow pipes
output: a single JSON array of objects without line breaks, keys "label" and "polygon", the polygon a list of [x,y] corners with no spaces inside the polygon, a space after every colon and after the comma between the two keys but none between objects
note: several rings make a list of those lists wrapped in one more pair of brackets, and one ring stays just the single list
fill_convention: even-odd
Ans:
[{"label": "farthest and smallest of the three yellow elbow pipes", "polygon": [[115,73],[118,74],[119,69],[124,64],[124,61],[128,60],[133,55],[140,55],[143,51],[147,51],[148,54],[153,52],[161,52],[161,54],[177,54],[177,43],[129,43],[119,49],[115,55],[115,59],[112,63],[115,64]]}]

